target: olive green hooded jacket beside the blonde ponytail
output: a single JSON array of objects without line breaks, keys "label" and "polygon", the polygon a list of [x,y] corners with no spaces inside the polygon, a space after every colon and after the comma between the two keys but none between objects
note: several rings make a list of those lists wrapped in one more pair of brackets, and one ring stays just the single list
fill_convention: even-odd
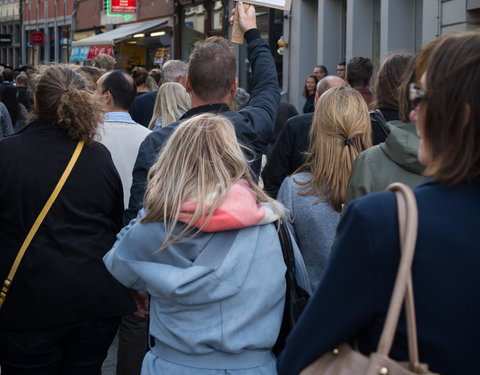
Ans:
[{"label": "olive green hooded jacket beside the blonde ponytail", "polygon": [[403,182],[414,188],[423,181],[425,167],[418,161],[420,138],[415,125],[390,121],[385,127],[389,132],[385,142],[370,147],[355,160],[348,182],[346,203],[384,190],[392,182]]}]

